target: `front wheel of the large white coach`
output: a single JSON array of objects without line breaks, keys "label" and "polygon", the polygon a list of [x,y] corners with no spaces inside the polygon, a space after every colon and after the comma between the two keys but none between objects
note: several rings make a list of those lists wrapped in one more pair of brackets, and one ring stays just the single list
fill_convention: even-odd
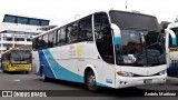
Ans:
[{"label": "front wheel of the large white coach", "polygon": [[96,84],[96,76],[92,70],[87,72],[86,84],[88,90],[98,91],[98,87]]}]

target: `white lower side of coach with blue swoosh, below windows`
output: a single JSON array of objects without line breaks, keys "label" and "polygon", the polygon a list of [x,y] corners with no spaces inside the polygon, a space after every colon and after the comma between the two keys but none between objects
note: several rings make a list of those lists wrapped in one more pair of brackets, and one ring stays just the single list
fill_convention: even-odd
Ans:
[{"label": "white lower side of coach with blue swoosh, below windows", "polygon": [[[90,64],[96,72],[97,86],[115,88],[115,67],[107,64],[98,57],[99,53],[93,42],[39,51],[40,67],[44,67],[47,77],[83,83],[85,70]],[[40,74],[40,68],[38,74]]]}]

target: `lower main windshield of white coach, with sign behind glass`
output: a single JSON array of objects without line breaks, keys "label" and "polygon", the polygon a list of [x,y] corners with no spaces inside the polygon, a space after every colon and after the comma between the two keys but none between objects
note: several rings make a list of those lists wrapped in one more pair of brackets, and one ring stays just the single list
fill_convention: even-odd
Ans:
[{"label": "lower main windshield of white coach, with sign behind glass", "polygon": [[121,46],[116,46],[118,64],[159,66],[166,63],[160,34],[151,31],[121,30]]}]

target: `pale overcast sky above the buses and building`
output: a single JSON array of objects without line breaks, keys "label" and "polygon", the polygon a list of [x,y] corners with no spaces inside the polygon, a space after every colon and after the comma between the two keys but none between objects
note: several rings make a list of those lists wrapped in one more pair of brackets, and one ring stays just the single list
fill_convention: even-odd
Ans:
[{"label": "pale overcast sky above the buses and building", "polygon": [[[158,21],[174,22],[178,0],[0,0],[0,21],[6,13],[49,19],[50,24],[65,24],[96,11],[139,11],[156,16]],[[127,9],[126,9],[127,6]]]}]

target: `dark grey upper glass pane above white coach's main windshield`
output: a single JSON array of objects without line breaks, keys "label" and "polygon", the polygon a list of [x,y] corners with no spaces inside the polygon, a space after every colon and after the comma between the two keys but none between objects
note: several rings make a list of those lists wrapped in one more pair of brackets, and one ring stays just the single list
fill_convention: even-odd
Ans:
[{"label": "dark grey upper glass pane above white coach's main windshield", "polygon": [[109,16],[111,23],[117,24],[121,30],[134,29],[160,32],[157,18],[152,16],[115,10],[111,10]]}]

